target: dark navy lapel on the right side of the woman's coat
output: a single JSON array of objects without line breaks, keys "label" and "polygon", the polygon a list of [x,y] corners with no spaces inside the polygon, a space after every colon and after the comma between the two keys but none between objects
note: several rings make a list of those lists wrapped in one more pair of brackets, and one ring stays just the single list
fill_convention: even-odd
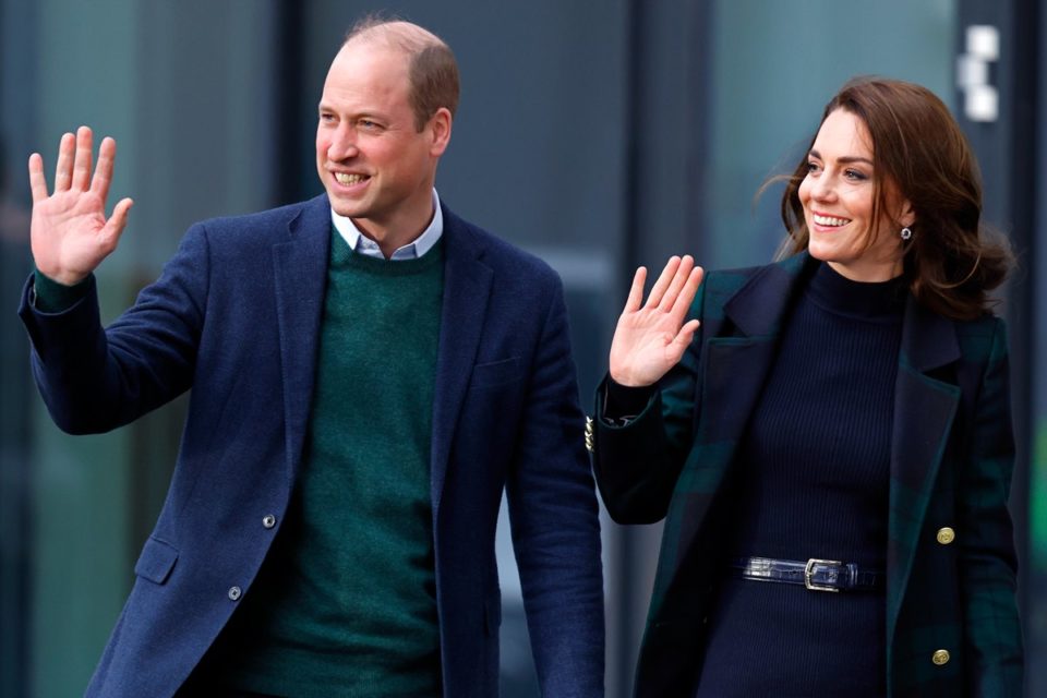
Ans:
[{"label": "dark navy lapel on the right side of the woman's coat", "polygon": [[912,298],[903,322],[891,434],[887,549],[889,645],[961,395],[959,386],[931,375],[960,359],[953,322],[923,309]]}]

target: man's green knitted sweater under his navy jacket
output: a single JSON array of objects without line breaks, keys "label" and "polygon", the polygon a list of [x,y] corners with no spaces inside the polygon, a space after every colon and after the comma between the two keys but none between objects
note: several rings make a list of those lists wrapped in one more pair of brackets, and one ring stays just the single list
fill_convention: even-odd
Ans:
[{"label": "man's green knitted sweater under his navy jacket", "polygon": [[430,442],[442,262],[442,243],[389,262],[333,233],[304,464],[210,662],[219,683],[440,695]]}]

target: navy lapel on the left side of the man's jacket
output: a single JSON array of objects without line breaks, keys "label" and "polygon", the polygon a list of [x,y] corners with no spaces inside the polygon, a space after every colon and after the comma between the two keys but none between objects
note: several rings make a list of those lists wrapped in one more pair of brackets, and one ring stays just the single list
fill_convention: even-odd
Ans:
[{"label": "navy lapel on the left side of the man's jacket", "polygon": [[330,230],[330,205],[326,196],[318,196],[288,224],[288,240],[273,245],[287,473],[292,482],[313,401]]}]

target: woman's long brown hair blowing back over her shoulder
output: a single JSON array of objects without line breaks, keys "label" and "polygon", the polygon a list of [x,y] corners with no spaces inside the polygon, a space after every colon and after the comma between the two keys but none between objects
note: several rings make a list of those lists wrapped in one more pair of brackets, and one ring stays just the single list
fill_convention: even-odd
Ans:
[{"label": "woman's long brown hair blowing back over her shoulder", "polygon": [[[837,109],[855,115],[869,131],[874,220],[886,210],[887,182],[913,207],[913,234],[903,246],[910,291],[946,317],[973,320],[985,314],[988,292],[1007,277],[1013,255],[1007,238],[982,222],[977,163],[949,109],[926,87],[881,77],[847,82],[826,105],[821,120]],[[786,253],[806,250],[810,238],[799,201],[806,176],[804,153],[782,196]]]}]

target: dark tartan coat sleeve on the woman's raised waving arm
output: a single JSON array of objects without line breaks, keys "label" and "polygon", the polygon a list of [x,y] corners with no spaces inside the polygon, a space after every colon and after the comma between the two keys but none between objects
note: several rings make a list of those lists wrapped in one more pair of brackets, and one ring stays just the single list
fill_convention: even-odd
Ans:
[{"label": "dark tartan coat sleeve on the woman's raised waving arm", "polygon": [[[702,316],[705,288],[699,288],[687,320]],[[603,503],[618,524],[653,524],[669,510],[694,441],[703,332],[699,327],[646,409],[627,423],[604,417],[607,378],[597,388],[592,466]]]}]

